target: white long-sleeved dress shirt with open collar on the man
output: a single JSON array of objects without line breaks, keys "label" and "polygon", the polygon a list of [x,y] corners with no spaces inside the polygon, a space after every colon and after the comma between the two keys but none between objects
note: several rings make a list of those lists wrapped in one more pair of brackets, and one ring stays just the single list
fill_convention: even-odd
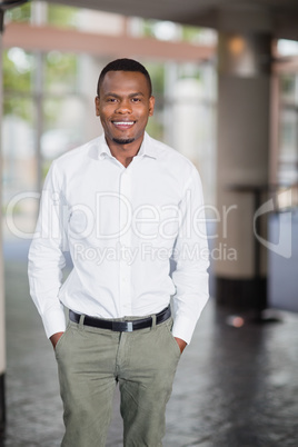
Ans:
[{"label": "white long-sleeved dress shirt with open collar on the man", "polygon": [[[29,281],[48,337],[66,329],[63,306],[142,317],[173,296],[172,334],[190,341],[209,296],[209,257],[200,178],[188,159],[145,133],[125,168],[101,136],[52,162],[40,205]],[[64,251],[73,268],[62,284]]]}]

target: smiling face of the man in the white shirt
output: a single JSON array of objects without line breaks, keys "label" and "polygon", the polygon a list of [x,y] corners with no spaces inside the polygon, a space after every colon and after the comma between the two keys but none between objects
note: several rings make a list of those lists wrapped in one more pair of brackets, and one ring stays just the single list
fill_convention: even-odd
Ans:
[{"label": "smiling face of the man in the white shirt", "polygon": [[108,145],[141,145],[148,118],[153,115],[146,77],[135,71],[109,71],[102,81],[96,111]]}]

